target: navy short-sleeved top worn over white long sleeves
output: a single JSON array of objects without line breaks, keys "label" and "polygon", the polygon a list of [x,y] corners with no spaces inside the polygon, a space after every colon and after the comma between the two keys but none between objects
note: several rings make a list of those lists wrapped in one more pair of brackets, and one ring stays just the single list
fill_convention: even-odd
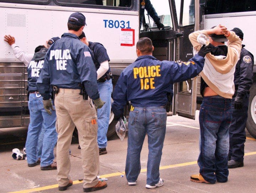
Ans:
[{"label": "navy short-sleeved top worn over white long sleeves", "polygon": [[[102,63],[104,61],[108,61],[108,62],[110,61],[110,58],[108,57],[108,54],[107,54],[107,50],[102,44],[100,44],[98,42],[89,41],[89,48],[92,51],[92,60],[94,62],[96,70],[98,70],[100,68],[100,63]],[[108,64],[107,72],[110,72],[109,64]]]}]

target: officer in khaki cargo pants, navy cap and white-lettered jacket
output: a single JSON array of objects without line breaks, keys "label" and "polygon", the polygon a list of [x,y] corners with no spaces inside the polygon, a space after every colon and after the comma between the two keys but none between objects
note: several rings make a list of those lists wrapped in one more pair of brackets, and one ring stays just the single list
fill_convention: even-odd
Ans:
[{"label": "officer in khaki cargo pants, navy cap and white-lettered jacket", "polygon": [[[43,96],[44,108],[50,110],[50,85],[54,85],[57,114],[57,181],[59,190],[72,186],[69,176],[69,149],[73,131],[78,129],[84,171],[84,192],[107,187],[98,181],[99,154],[97,146],[97,115],[90,103],[101,108],[97,86],[97,73],[91,58],[91,51],[78,38],[82,34],[85,16],[75,12],[68,19],[68,32],[49,48],[44,67],[37,81],[38,91]],[[81,93],[81,94],[80,94]],[[90,97],[88,98],[87,95]]]}]

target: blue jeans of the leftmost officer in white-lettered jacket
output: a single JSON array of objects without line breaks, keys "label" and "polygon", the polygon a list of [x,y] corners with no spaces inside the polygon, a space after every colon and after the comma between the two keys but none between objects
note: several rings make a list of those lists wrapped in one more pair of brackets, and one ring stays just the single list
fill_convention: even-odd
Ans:
[{"label": "blue jeans of the leftmost officer in white-lettered jacket", "polygon": [[37,161],[38,137],[41,128],[44,128],[41,166],[48,166],[53,163],[53,148],[57,142],[57,132],[55,129],[56,113],[52,111],[52,115],[49,115],[44,110],[43,97],[39,94],[30,94],[28,109],[30,110],[30,124],[26,141],[27,163],[33,164]]}]

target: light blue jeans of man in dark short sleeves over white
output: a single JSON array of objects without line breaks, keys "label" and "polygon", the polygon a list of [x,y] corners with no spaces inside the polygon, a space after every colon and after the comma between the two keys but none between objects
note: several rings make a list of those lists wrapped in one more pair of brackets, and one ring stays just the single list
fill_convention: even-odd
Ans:
[{"label": "light blue jeans of man in dark short sleeves over white", "polygon": [[99,148],[107,147],[107,130],[110,118],[111,93],[113,90],[112,79],[104,83],[98,83],[98,90],[102,101],[106,102],[102,108],[97,109],[98,118],[98,136],[97,142]]}]

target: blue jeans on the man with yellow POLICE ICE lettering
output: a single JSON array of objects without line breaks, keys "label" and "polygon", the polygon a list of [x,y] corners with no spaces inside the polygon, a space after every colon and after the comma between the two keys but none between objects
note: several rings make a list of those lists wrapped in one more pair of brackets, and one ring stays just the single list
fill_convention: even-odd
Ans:
[{"label": "blue jeans on the man with yellow POLICE ICE lettering", "polygon": [[140,152],[145,135],[148,134],[148,185],[159,181],[159,165],[166,130],[166,110],[163,107],[134,107],[128,121],[128,148],[126,157],[126,178],[135,182],[140,173]]}]

